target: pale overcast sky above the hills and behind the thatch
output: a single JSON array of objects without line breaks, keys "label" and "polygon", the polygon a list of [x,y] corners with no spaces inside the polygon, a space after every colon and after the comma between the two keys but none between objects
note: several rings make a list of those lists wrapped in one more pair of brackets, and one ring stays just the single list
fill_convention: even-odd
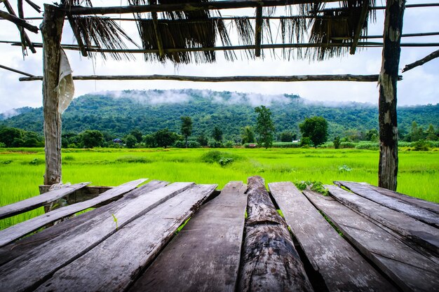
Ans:
[{"label": "pale overcast sky above the hills and behind the thatch", "polygon": [[[34,1],[41,7],[43,3],[51,1]],[[122,3],[125,1],[122,1]],[[428,3],[435,0],[407,1],[407,4]],[[16,11],[16,1],[10,0]],[[118,1],[93,1],[94,6],[117,6]],[[24,3],[27,6],[26,3]],[[377,1],[377,5],[385,5]],[[283,8],[278,8],[283,9]],[[4,11],[4,5],[0,4]],[[231,15],[232,11],[222,11],[222,15]],[[439,7],[433,8],[407,8],[405,11],[403,34],[414,32],[439,32]],[[38,16],[32,8],[25,9],[25,16]],[[382,34],[384,11],[377,11],[377,23],[370,25],[369,34]],[[41,20],[30,21],[39,26]],[[6,20],[0,20],[0,41],[19,41],[18,29]],[[137,34],[135,27],[124,27],[128,34]],[[41,34],[27,32],[32,41],[41,42]],[[377,40],[372,40],[377,41]],[[439,43],[439,36],[404,38],[408,42],[434,42]],[[62,43],[73,43],[73,37],[68,22],[62,36]],[[140,43],[140,42],[139,42]],[[41,48],[37,53],[22,58],[20,47],[0,43],[0,64],[25,71],[34,75],[42,75]],[[266,50],[264,60],[238,60],[227,62],[222,53],[217,53],[217,62],[214,64],[180,65],[174,67],[170,62],[146,63],[142,55],[136,61],[114,62],[102,61],[97,57],[95,62],[81,57],[77,51],[66,51],[69,62],[76,75],[149,75],[149,74],[179,74],[189,76],[240,76],[240,75],[305,75],[305,74],[379,74],[381,67],[382,48],[368,48],[360,50],[356,55],[327,60],[324,62],[308,61],[283,61],[273,60]],[[400,69],[405,64],[412,63],[422,57],[438,50],[438,47],[429,48],[402,48]],[[237,53],[239,57],[239,53]],[[0,113],[22,106],[39,107],[42,105],[41,81],[20,82],[20,74],[0,69]],[[398,104],[436,104],[439,102],[439,58],[422,67],[417,67],[403,74],[403,81],[398,83]],[[102,92],[103,90],[148,90],[148,89],[180,89],[196,88],[209,90],[229,90],[236,92],[256,92],[262,94],[295,94],[305,99],[315,101],[356,101],[377,104],[378,89],[376,83],[355,82],[295,82],[295,83],[191,83],[178,81],[76,81],[75,97],[89,92]]]}]

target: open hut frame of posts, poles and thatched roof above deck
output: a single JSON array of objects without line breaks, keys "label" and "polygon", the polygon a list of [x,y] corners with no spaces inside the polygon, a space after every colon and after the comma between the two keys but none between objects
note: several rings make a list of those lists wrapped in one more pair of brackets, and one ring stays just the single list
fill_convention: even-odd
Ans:
[{"label": "open hut frame of posts, poles and thatched roof above deck", "polygon": [[[61,181],[60,113],[72,99],[72,83],[75,80],[357,81],[379,83],[379,186],[396,190],[396,89],[400,80],[398,66],[404,0],[388,0],[386,6],[377,6],[374,0],[127,0],[122,1],[123,6],[104,7],[94,6],[92,0],[61,0],[60,4],[44,4],[40,28],[25,20],[23,1],[18,1],[18,15],[8,0],[2,2],[7,11],[0,11],[0,18],[17,25],[22,49],[29,48],[34,52],[38,46],[43,48],[43,76],[29,76],[20,80],[43,80],[45,184]],[[32,1],[25,2],[25,5],[41,11]],[[102,4],[102,1],[97,3]],[[326,8],[327,4],[332,8]],[[254,16],[238,16],[236,12],[243,8],[252,9]],[[225,10],[228,14],[236,13],[236,16],[223,17],[221,12]],[[279,15],[281,10],[284,13]],[[386,11],[382,43],[367,41],[367,26],[374,21],[377,10]],[[112,15],[119,17],[112,18]],[[135,43],[123,31],[119,20],[135,21],[141,44]],[[74,32],[74,45],[61,44],[65,22],[69,22]],[[281,40],[271,37],[277,29],[281,31]],[[26,31],[41,31],[43,43],[29,41]],[[137,48],[130,48],[132,44]],[[281,50],[284,60],[295,57],[320,61],[355,54],[359,48],[376,46],[383,48],[381,71],[377,75],[367,76],[72,76],[62,51],[79,50],[84,57],[93,58],[99,54],[104,59],[119,61],[129,60],[134,54],[140,53],[145,62],[170,61],[175,65],[184,65],[213,63],[217,54],[224,54],[226,60],[234,61],[237,52],[241,52],[241,57],[254,59],[276,49]],[[295,49],[294,56],[292,48]],[[407,69],[438,57],[438,52],[410,64]]]}]

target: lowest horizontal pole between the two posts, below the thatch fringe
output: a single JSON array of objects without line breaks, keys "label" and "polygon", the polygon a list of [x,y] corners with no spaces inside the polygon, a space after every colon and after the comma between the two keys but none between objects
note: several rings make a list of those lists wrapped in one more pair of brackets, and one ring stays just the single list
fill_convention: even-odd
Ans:
[{"label": "lowest horizontal pole between the two posts, below the thatch fringe", "polygon": [[[43,76],[21,77],[20,81],[42,81]],[[110,76],[73,76],[73,80],[167,80],[167,81],[191,81],[191,82],[299,82],[299,81],[356,81],[356,82],[377,82],[378,75],[295,75],[295,76],[179,76],[179,75],[110,75]],[[403,80],[399,76],[398,80]]]}]

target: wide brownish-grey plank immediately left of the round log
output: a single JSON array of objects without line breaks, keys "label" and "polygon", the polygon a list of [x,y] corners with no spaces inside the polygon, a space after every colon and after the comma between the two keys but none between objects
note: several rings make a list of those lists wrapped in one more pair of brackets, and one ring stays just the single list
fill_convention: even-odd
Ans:
[{"label": "wide brownish-grey plank immediately left of the round log", "polygon": [[134,291],[235,291],[247,206],[246,186],[228,183],[201,207],[151,267]]}]

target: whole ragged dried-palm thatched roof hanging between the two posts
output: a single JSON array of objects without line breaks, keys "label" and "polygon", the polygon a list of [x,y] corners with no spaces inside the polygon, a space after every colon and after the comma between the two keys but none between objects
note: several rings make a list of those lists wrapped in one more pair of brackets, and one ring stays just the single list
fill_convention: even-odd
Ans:
[{"label": "whole ragged dried-palm thatched roof hanging between the two posts", "polygon": [[[130,58],[130,53],[140,51],[147,61],[170,60],[175,64],[215,62],[219,50],[223,51],[227,60],[236,60],[237,55],[252,59],[255,58],[255,48],[261,46],[262,49],[283,49],[281,55],[262,50],[262,57],[264,53],[270,53],[285,59],[324,60],[344,55],[350,50],[353,53],[352,47],[355,49],[357,46],[360,34],[363,38],[367,36],[367,22],[374,20],[373,10],[369,9],[374,6],[374,0],[339,1],[339,7],[331,9],[325,9],[325,1],[312,0],[294,1],[300,3],[295,5],[281,0],[127,0],[124,11],[136,7],[132,15],[142,42],[136,44],[133,41],[135,38],[128,36],[119,26],[120,22],[94,13],[93,9],[102,11],[93,7],[92,2],[63,0],[58,5],[69,20],[78,43],[77,49],[83,55],[94,57],[95,53],[102,53],[104,59],[122,60]],[[262,5],[264,9],[257,17],[223,18],[213,7],[215,5],[210,4],[226,2],[234,2],[232,4],[236,7]],[[273,14],[276,9],[285,13]],[[257,27],[258,18],[261,27]],[[262,44],[255,43],[259,32]],[[137,49],[129,49],[133,44]],[[236,54],[238,49],[244,53]]]}]

